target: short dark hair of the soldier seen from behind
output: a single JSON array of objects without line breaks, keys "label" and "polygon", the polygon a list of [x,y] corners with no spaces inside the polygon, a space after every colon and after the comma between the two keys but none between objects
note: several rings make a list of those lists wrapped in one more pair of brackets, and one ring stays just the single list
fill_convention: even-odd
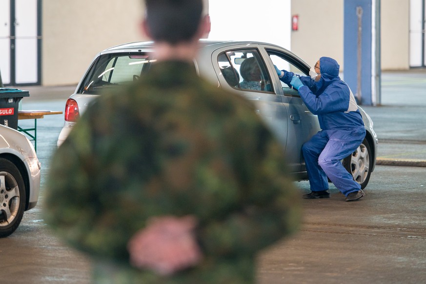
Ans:
[{"label": "short dark hair of the soldier seen from behind", "polygon": [[190,41],[200,26],[203,0],[145,0],[146,23],[154,41]]}]

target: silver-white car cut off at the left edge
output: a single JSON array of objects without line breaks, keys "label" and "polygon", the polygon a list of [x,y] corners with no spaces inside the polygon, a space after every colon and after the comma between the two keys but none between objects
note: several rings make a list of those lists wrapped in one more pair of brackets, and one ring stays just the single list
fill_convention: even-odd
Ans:
[{"label": "silver-white car cut off at the left edge", "polygon": [[39,200],[41,163],[19,131],[0,125],[0,238],[12,234]]}]

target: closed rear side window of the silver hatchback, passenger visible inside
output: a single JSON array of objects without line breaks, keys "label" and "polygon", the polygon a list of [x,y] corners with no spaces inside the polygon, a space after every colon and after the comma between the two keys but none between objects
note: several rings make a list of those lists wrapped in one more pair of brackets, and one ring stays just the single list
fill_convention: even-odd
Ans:
[{"label": "closed rear side window of the silver hatchback, passenger visible inside", "polygon": [[223,78],[233,88],[273,92],[264,61],[256,49],[223,52],[218,56]]}]

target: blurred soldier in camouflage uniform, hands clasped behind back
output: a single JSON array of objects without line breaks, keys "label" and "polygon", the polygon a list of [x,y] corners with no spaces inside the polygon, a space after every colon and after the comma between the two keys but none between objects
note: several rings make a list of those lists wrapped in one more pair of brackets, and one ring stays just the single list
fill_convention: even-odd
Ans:
[{"label": "blurred soldier in camouflage uniform, hands clasped behind back", "polygon": [[95,100],[53,157],[45,221],[91,256],[95,283],[253,283],[257,252],[300,222],[282,146],[196,73],[202,6],[146,0],[158,61]]}]

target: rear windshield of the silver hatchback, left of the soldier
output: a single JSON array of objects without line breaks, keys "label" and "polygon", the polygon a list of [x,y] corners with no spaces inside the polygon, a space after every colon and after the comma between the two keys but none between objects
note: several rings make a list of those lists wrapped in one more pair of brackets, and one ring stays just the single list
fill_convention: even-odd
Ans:
[{"label": "rear windshield of the silver hatchback, left of the soldier", "polygon": [[100,90],[139,80],[151,62],[149,53],[114,53],[99,56],[86,73],[79,93],[99,93]]}]

